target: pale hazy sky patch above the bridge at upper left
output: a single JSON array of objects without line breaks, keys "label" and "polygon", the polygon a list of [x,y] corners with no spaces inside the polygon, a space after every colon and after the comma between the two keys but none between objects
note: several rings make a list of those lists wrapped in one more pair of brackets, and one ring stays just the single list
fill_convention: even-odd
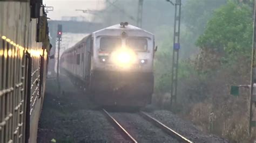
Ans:
[{"label": "pale hazy sky patch above the bridge at upper left", "polygon": [[75,10],[101,10],[105,7],[105,0],[43,0],[43,3],[46,6],[53,6],[53,11],[48,13],[51,19],[61,19],[62,16],[83,16],[90,20],[93,15]]}]

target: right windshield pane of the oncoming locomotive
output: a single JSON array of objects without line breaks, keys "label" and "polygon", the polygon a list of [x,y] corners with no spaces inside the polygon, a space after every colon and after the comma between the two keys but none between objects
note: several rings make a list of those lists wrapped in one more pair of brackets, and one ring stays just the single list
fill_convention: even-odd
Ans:
[{"label": "right windshield pane of the oncoming locomotive", "polygon": [[126,46],[134,49],[135,51],[147,50],[147,39],[144,38],[127,38]]}]

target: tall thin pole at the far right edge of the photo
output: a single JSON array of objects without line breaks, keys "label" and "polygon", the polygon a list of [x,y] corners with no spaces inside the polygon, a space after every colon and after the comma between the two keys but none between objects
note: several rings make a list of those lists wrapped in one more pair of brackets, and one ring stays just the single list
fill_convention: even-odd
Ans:
[{"label": "tall thin pole at the far right edge of the photo", "polygon": [[250,101],[249,101],[249,134],[252,132],[252,127],[256,127],[256,121],[253,121],[253,104],[256,107],[256,95],[254,94],[256,91],[256,87],[254,84],[256,83],[256,0],[254,0],[254,27],[253,27],[253,45],[252,45],[252,70],[251,70],[251,92],[250,92]]}]

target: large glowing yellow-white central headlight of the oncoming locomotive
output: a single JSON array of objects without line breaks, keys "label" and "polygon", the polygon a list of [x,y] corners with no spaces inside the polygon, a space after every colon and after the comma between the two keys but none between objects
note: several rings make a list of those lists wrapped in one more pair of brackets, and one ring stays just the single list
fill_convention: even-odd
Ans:
[{"label": "large glowing yellow-white central headlight of the oncoming locomotive", "polygon": [[113,52],[112,61],[122,67],[130,67],[136,62],[136,54],[129,48],[120,48]]}]

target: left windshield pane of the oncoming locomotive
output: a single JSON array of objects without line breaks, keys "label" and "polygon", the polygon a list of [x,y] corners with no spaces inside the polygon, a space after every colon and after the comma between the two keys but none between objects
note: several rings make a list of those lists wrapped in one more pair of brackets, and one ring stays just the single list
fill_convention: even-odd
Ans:
[{"label": "left windshield pane of the oncoming locomotive", "polygon": [[110,51],[120,46],[122,46],[122,40],[120,38],[113,38],[113,37],[100,38],[100,49],[103,51]]}]

